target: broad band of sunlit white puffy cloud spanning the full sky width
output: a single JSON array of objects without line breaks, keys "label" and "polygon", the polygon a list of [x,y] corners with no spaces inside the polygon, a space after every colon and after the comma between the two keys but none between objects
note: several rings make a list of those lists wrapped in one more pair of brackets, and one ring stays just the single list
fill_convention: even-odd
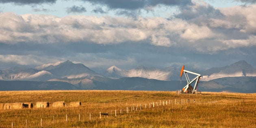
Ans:
[{"label": "broad band of sunlit white puffy cloud spanning the full sky width", "polygon": [[[76,8],[76,6],[75,6]],[[79,7],[82,9],[82,7]],[[79,10],[78,9],[78,10]],[[254,46],[255,5],[214,9],[207,3],[188,5],[193,16],[163,17],[94,17],[71,15],[17,15],[0,13],[0,42],[18,44],[93,43],[111,46],[143,43],[157,47],[184,48],[207,54]],[[206,12],[204,12],[206,11]],[[132,11],[130,11],[132,12]],[[200,12],[204,12],[200,16]],[[205,17],[206,20],[199,20]],[[239,18],[237,18],[239,17]],[[239,43],[240,42],[240,43]]]}]

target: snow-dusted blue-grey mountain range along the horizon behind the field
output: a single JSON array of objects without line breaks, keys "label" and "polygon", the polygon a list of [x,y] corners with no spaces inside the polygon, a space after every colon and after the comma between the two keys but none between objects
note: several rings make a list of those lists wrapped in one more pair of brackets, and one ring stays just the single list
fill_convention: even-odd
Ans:
[{"label": "snow-dusted blue-grey mountain range along the horizon behind the field", "polygon": [[[11,67],[0,70],[0,90],[163,90],[182,89],[181,67],[138,67],[120,69],[112,66],[102,74],[71,61],[44,64],[33,68]],[[256,92],[256,69],[246,61],[214,67],[200,73],[202,91]],[[189,78],[193,78],[190,75]],[[184,78],[183,78],[184,79]]]}]

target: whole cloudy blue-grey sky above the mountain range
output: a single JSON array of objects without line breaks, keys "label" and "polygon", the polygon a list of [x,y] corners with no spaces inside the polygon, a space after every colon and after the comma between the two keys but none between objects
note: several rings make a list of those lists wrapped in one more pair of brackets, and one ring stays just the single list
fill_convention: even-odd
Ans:
[{"label": "whole cloudy blue-grey sky above the mountain range", "polygon": [[256,67],[256,0],[0,0],[0,69]]}]

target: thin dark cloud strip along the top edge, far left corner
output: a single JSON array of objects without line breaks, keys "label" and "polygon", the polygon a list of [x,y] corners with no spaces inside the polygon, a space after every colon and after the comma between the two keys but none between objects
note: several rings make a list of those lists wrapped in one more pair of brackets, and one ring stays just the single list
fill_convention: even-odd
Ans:
[{"label": "thin dark cloud strip along the top edge, far left corner", "polygon": [[43,4],[50,3],[53,4],[57,0],[0,0],[0,3],[14,3],[14,4]]}]

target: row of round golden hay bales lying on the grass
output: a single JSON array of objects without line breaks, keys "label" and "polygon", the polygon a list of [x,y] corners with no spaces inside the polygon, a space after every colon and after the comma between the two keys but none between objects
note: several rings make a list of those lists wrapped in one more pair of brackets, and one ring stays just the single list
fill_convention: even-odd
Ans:
[{"label": "row of round golden hay bales lying on the grass", "polygon": [[[81,105],[81,102],[70,102],[68,104],[69,107],[78,107]],[[37,102],[36,108],[48,108],[50,106],[49,102]],[[54,102],[52,103],[52,107],[59,108],[65,107],[66,104],[64,101]],[[16,103],[0,103],[0,109],[22,109],[22,108],[33,108],[33,103],[30,102],[16,102]]]}]

